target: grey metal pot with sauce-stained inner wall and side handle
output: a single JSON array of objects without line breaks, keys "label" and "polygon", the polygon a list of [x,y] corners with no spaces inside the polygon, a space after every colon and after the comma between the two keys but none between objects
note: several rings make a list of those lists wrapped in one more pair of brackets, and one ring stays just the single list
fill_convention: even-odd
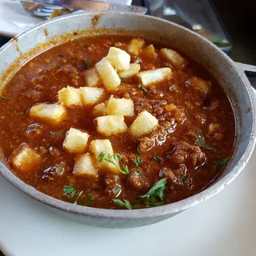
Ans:
[{"label": "grey metal pot with sauce-stained inner wall and side handle", "polygon": [[[125,228],[146,226],[170,218],[222,190],[242,171],[255,144],[255,102],[245,70],[256,67],[233,62],[211,42],[172,22],[138,14],[75,14],[44,22],[20,34],[0,50],[1,86],[31,57],[61,42],[95,34],[130,34],[162,42],[194,58],[214,75],[230,98],[236,120],[234,155],[223,174],[206,190],[166,206],[142,210],[104,210],[76,206],[42,194],[20,181],[2,158],[0,174],[22,192],[58,214],[90,226]],[[0,87],[0,90],[2,87]]]}]

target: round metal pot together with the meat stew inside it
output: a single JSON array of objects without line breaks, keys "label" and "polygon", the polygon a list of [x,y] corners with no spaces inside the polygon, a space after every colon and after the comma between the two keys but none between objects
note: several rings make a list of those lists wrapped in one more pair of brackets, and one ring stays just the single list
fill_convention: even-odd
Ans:
[{"label": "round metal pot together with the meat stew inside it", "polygon": [[[58,22],[68,34],[58,32]],[[138,23],[142,30],[133,29]],[[165,36],[154,32],[158,26]],[[142,15],[81,14],[22,37],[0,54],[31,50],[2,76],[9,82],[2,90],[2,151],[8,168],[37,190],[0,170],[61,214],[96,226],[158,222],[217,193],[248,160],[254,111],[247,84],[233,62],[198,35]],[[26,37],[45,42],[23,45]],[[39,54],[50,46],[56,47]]]}]

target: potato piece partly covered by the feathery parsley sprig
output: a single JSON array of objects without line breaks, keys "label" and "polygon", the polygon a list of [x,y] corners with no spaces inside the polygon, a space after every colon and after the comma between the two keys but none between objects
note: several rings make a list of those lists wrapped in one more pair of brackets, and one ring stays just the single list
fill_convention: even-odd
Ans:
[{"label": "potato piece partly covered by the feathery parsley sprig", "polygon": [[99,168],[110,170],[111,172],[120,174],[118,169],[116,168],[116,166],[114,166],[113,163],[107,162],[104,159],[102,160],[102,162],[99,162],[99,155],[102,154],[103,151],[105,152],[105,158],[108,158],[109,154],[110,155],[114,154],[113,148],[109,139],[94,139],[92,142],[90,142],[90,150],[92,153],[94,153],[95,158],[98,161]]}]

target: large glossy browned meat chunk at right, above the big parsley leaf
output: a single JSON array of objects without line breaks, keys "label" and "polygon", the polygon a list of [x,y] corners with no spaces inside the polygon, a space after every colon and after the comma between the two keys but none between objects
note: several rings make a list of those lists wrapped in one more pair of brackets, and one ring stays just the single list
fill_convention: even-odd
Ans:
[{"label": "large glossy browned meat chunk at right, above the big parsley leaf", "polygon": [[175,166],[181,166],[187,160],[190,160],[193,166],[199,166],[206,162],[206,154],[202,152],[199,146],[193,146],[187,142],[179,142],[174,148],[174,154],[170,159]]}]

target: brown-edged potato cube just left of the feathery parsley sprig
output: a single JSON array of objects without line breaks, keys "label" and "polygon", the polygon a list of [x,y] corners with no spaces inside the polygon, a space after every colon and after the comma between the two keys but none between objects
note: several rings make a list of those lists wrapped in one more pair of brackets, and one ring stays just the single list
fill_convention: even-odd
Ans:
[{"label": "brown-edged potato cube just left of the feathery parsley sprig", "polygon": [[90,153],[82,154],[75,158],[73,174],[75,176],[98,176],[97,162]]}]

